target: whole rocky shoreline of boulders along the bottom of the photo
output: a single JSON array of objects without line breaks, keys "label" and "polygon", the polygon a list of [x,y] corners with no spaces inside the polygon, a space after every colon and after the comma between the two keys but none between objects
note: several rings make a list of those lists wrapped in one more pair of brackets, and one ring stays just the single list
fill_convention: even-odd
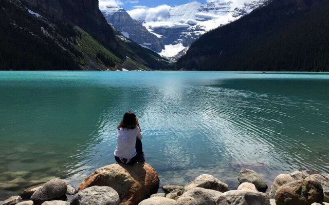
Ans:
[{"label": "whole rocky shoreline of boulders along the bottom of the photo", "polygon": [[261,175],[242,169],[237,180],[239,187],[229,190],[222,179],[202,174],[185,186],[165,185],[163,193],[156,193],[160,180],[148,163],[113,164],[94,171],[77,190],[55,178],[0,205],[329,205],[329,174],[280,174],[269,188]]}]

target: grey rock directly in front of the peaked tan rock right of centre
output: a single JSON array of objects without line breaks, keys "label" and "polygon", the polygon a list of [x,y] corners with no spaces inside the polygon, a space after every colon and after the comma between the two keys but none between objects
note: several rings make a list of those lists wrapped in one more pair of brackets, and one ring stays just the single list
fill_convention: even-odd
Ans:
[{"label": "grey rock directly in front of the peaked tan rock right of centre", "polygon": [[196,200],[196,205],[216,205],[215,200],[223,193],[211,189],[195,187],[181,195],[181,197],[192,197]]}]

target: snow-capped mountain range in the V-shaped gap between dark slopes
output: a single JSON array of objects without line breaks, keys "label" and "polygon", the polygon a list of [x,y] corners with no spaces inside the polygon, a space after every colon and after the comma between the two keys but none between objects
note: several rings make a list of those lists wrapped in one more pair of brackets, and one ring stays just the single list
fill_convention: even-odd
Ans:
[{"label": "snow-capped mountain range in the V-shaped gap between dark slopes", "polygon": [[[155,13],[154,8],[128,11],[127,13],[130,14],[132,19],[114,17],[123,16],[122,12],[124,10],[119,7],[108,8],[108,10],[102,12],[109,23],[116,26],[123,34],[129,36],[138,44],[155,50],[162,56],[177,59],[184,55],[189,46],[207,31],[248,14],[264,5],[266,1],[254,0],[251,2],[249,0],[248,3],[236,4],[229,0],[213,0],[207,3],[191,2],[175,7],[163,5],[159,13]],[[126,15],[125,11],[124,13]],[[132,24],[133,19],[135,20],[134,24]],[[128,28],[136,27],[137,21],[149,31],[148,34],[145,33],[145,30],[142,33],[137,31],[142,29],[128,31]],[[153,37],[156,36],[159,41],[150,38],[150,34]],[[157,49],[154,49],[154,47]],[[161,51],[158,49],[159,47],[161,47]]]}]

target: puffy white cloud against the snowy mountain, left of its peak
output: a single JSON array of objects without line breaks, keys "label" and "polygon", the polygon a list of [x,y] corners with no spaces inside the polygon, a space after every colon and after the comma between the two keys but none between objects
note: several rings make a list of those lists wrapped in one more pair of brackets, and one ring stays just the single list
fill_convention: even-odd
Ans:
[{"label": "puffy white cloud against the snowy mountain, left of its peak", "polygon": [[158,22],[169,18],[171,7],[160,5],[154,8],[139,7],[128,11],[129,15],[136,20],[147,20],[147,22]]}]

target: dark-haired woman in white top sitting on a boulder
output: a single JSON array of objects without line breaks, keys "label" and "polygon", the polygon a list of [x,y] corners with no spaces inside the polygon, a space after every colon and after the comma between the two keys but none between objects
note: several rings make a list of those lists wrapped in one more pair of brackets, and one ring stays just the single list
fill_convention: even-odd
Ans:
[{"label": "dark-haired woman in white top sitting on a boulder", "polygon": [[145,162],[142,137],[137,116],[133,111],[127,111],[118,125],[117,148],[114,151],[115,160],[125,165]]}]

